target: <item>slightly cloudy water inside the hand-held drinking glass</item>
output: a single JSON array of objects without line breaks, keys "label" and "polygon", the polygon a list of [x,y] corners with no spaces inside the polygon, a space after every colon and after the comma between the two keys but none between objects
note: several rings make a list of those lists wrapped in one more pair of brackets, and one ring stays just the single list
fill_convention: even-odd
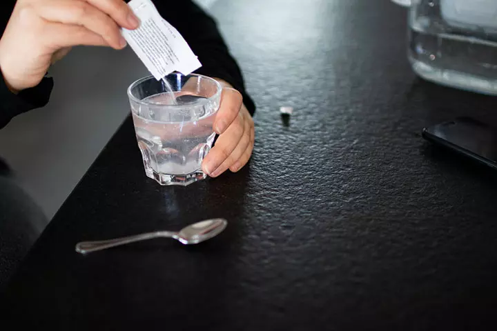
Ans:
[{"label": "slightly cloudy water inside the hand-held drinking glass", "polygon": [[144,101],[159,105],[173,105],[170,111],[133,112],[138,146],[144,159],[148,177],[160,182],[190,183],[205,175],[202,160],[211,149],[215,133],[213,122],[217,109],[206,106],[188,106],[195,99],[204,99],[188,92],[174,92],[175,101],[168,92],[156,94]]}]

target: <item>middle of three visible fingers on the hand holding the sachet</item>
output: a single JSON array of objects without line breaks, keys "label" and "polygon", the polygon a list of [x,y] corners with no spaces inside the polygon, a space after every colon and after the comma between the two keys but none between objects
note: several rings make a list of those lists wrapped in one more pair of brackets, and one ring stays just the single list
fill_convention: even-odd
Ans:
[{"label": "middle of three visible fingers on the hand holding the sachet", "polygon": [[84,1],[37,1],[35,6],[40,17],[47,21],[84,26],[101,35],[113,48],[120,49],[126,46],[126,41],[121,36],[115,21]]}]

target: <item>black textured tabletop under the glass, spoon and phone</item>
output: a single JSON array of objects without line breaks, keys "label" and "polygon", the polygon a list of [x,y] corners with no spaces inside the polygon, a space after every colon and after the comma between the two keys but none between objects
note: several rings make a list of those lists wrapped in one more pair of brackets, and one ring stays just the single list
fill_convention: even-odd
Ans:
[{"label": "black textured tabletop under the glass, spoon and phone", "polygon": [[[259,106],[250,165],[160,187],[126,120],[12,279],[2,319],[39,330],[495,328],[496,179],[420,130],[458,115],[497,123],[497,99],[416,78],[405,11],[387,0],[221,0],[215,11]],[[295,108],[290,121],[280,106]],[[209,217],[228,228],[195,247],[74,251]]]}]

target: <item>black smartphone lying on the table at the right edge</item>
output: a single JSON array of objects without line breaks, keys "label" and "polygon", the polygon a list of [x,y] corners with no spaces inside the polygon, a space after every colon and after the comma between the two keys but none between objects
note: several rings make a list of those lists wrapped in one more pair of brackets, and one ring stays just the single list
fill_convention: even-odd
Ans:
[{"label": "black smartphone lying on the table at the right edge", "polygon": [[469,117],[424,128],[422,137],[497,170],[497,129]]}]

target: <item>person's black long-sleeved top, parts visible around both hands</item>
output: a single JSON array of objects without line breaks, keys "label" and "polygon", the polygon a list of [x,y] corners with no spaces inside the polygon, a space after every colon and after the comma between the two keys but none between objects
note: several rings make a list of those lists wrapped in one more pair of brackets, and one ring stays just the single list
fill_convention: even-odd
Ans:
[{"label": "person's black long-sleeved top, parts visible around both hands", "polygon": [[[0,1],[1,34],[6,28],[15,2],[15,0]],[[235,59],[231,57],[215,21],[191,0],[154,0],[153,2],[162,17],[177,28],[199,57],[202,68],[196,72],[231,83],[235,89],[242,92],[244,104],[253,114],[255,105],[246,94],[242,72]],[[52,79],[44,78],[35,88],[23,90],[16,95],[8,90],[0,74],[0,128],[6,126],[17,114],[45,106],[52,87]]]}]

